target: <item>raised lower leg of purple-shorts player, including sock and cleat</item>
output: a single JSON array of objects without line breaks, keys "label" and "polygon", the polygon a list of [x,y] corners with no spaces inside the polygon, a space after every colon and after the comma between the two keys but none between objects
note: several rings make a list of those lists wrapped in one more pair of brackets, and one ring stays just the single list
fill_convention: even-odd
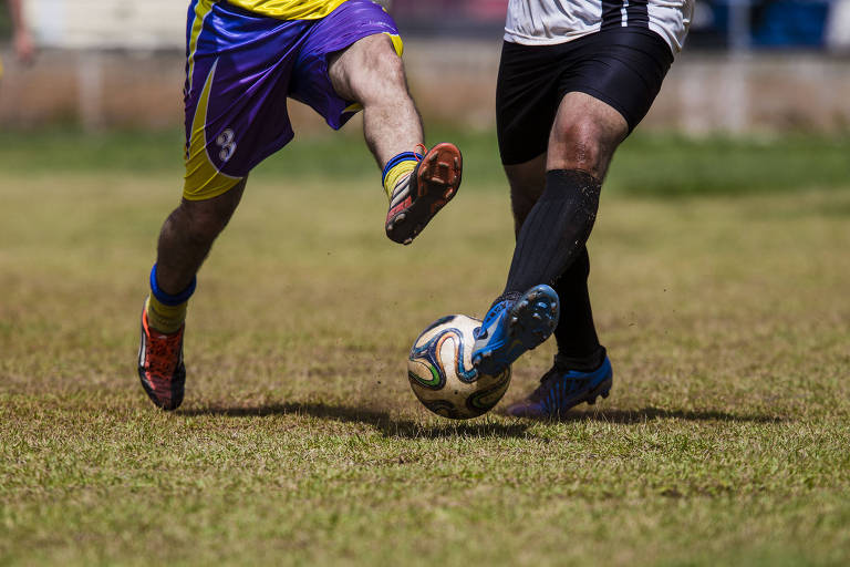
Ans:
[{"label": "raised lower leg of purple-shorts player, including sock and cleat", "polygon": [[460,152],[447,143],[416,152],[425,147],[422,120],[387,35],[363,38],[336,53],[329,75],[340,96],[363,106],[363,134],[390,198],[386,234],[410,244],[457,193]]}]

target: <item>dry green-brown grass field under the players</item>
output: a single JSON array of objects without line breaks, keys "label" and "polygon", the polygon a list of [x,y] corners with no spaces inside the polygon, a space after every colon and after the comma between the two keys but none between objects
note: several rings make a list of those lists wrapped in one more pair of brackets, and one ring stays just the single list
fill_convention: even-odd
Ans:
[{"label": "dry green-brown grass field under the players", "polygon": [[501,415],[550,341],[457,423],[406,352],[512,249],[493,136],[460,143],[411,247],[355,136],[261,166],[166,414],[135,359],[179,133],[0,134],[0,565],[850,563],[850,141],[630,140],[590,244],[611,396]]}]

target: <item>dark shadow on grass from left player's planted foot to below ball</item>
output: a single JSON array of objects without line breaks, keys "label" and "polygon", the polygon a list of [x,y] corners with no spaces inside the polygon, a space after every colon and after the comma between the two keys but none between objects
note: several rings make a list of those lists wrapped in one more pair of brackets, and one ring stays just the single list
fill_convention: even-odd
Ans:
[{"label": "dark shadow on grass from left player's planted foot to below ball", "polygon": [[229,417],[263,417],[268,415],[310,415],[321,420],[372,425],[385,437],[439,439],[439,437],[526,437],[526,423],[480,423],[476,421],[445,421],[438,424],[423,424],[412,420],[394,419],[386,411],[324,403],[277,403],[247,406],[209,406],[178,410],[180,415],[224,415]]}]

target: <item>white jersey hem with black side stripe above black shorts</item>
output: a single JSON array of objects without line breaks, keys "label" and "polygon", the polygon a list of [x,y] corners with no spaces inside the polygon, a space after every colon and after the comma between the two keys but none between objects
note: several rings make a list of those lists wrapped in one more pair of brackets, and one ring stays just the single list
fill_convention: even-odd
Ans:
[{"label": "white jersey hem with black side stripe above black shorts", "polygon": [[682,50],[694,0],[510,0],[505,41],[564,43],[609,28],[647,28]]}]

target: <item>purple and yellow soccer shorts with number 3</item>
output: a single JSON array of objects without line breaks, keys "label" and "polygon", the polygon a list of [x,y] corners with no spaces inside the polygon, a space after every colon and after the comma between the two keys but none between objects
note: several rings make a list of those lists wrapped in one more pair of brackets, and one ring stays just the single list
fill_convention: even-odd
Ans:
[{"label": "purple and yellow soccer shorts with number 3", "polygon": [[216,197],[294,136],[287,97],[313,107],[339,130],[359,110],[336,95],[328,56],[386,33],[401,55],[390,14],[348,0],[322,19],[280,20],[224,1],[191,0],[186,30],[186,183],[188,200]]}]

